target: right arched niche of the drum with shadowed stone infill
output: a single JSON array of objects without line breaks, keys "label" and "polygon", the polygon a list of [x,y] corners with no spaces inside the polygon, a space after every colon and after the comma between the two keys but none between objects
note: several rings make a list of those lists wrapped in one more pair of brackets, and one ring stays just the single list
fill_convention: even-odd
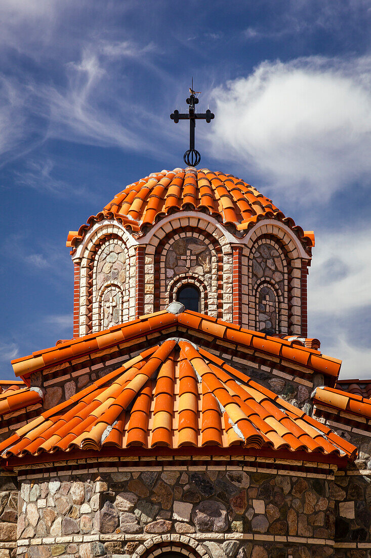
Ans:
[{"label": "right arched niche of the drum with shadowed stone infill", "polygon": [[248,259],[251,329],[289,333],[289,264],[285,247],[272,235],[263,234],[253,244]]}]

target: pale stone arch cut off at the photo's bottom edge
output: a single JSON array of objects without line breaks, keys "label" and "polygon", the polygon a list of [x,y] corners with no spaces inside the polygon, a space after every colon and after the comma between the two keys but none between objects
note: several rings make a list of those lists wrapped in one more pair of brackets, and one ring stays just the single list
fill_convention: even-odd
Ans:
[{"label": "pale stone arch cut off at the photo's bottom edge", "polygon": [[[159,538],[162,539],[160,542]],[[138,546],[132,558],[155,558],[165,552],[174,552],[184,558],[202,558],[205,554],[202,546],[187,535],[160,535]]]}]

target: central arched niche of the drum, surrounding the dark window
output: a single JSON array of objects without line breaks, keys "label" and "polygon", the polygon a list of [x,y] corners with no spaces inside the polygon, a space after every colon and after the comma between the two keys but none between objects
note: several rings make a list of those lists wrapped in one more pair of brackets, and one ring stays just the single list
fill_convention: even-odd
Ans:
[{"label": "central arched niche of the drum, surrounding the dark window", "polygon": [[[154,249],[151,244],[147,246],[146,260],[148,254],[148,261],[153,264],[147,263],[145,283],[150,283],[147,271],[153,269],[154,292],[157,294],[153,297],[152,309],[157,311],[167,306],[170,282],[186,274],[189,278],[202,279],[206,285],[208,314],[232,321],[231,246],[215,225],[197,219],[199,227],[194,227],[191,225],[194,220],[176,219],[177,228],[172,223],[170,231],[165,227],[163,231],[157,231]],[[153,311],[146,305],[144,309],[145,313]]]}]

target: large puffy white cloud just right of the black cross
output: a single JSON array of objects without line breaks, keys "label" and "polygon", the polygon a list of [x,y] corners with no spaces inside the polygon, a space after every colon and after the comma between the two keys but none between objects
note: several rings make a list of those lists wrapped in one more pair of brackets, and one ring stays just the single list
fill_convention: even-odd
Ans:
[{"label": "large puffy white cloud just right of the black cross", "polygon": [[[371,59],[263,62],[214,89],[215,157],[297,199],[323,201],[371,171]],[[368,179],[369,180],[369,177]]]}]

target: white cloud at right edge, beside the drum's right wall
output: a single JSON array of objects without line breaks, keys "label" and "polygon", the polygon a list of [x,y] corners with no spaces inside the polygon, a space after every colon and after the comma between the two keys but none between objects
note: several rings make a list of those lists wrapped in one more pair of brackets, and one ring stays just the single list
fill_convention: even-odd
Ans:
[{"label": "white cloud at right edge, beside the drum's right wall", "polygon": [[309,335],[343,360],[341,378],[371,376],[371,227],[316,235],[308,278]]}]

